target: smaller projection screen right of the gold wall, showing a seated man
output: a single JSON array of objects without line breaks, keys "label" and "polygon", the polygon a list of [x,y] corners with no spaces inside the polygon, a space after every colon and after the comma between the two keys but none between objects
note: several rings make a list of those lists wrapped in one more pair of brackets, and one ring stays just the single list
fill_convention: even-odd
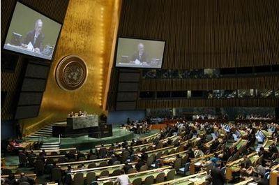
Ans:
[{"label": "smaller projection screen right of the gold wall, showing a seated man", "polygon": [[118,38],[116,67],[161,68],[165,41]]}]

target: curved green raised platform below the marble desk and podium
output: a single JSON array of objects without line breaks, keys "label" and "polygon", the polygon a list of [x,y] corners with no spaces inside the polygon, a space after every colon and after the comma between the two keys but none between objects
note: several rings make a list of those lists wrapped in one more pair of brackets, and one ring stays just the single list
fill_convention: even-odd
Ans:
[{"label": "curved green raised platform below the marble desk and podium", "polygon": [[[135,135],[133,132],[126,131],[126,129],[122,129],[120,127],[112,128],[112,137],[107,138],[89,138],[87,135],[74,137],[74,138],[61,138],[61,148],[70,148],[76,147],[77,149],[92,149],[96,145],[100,144],[110,144],[115,143],[116,141],[122,142],[123,140],[132,140],[135,137],[146,137],[148,135],[152,135],[157,133],[158,130],[151,130],[151,132],[141,135]],[[59,138],[48,137],[43,138],[43,142],[57,142]]]}]

